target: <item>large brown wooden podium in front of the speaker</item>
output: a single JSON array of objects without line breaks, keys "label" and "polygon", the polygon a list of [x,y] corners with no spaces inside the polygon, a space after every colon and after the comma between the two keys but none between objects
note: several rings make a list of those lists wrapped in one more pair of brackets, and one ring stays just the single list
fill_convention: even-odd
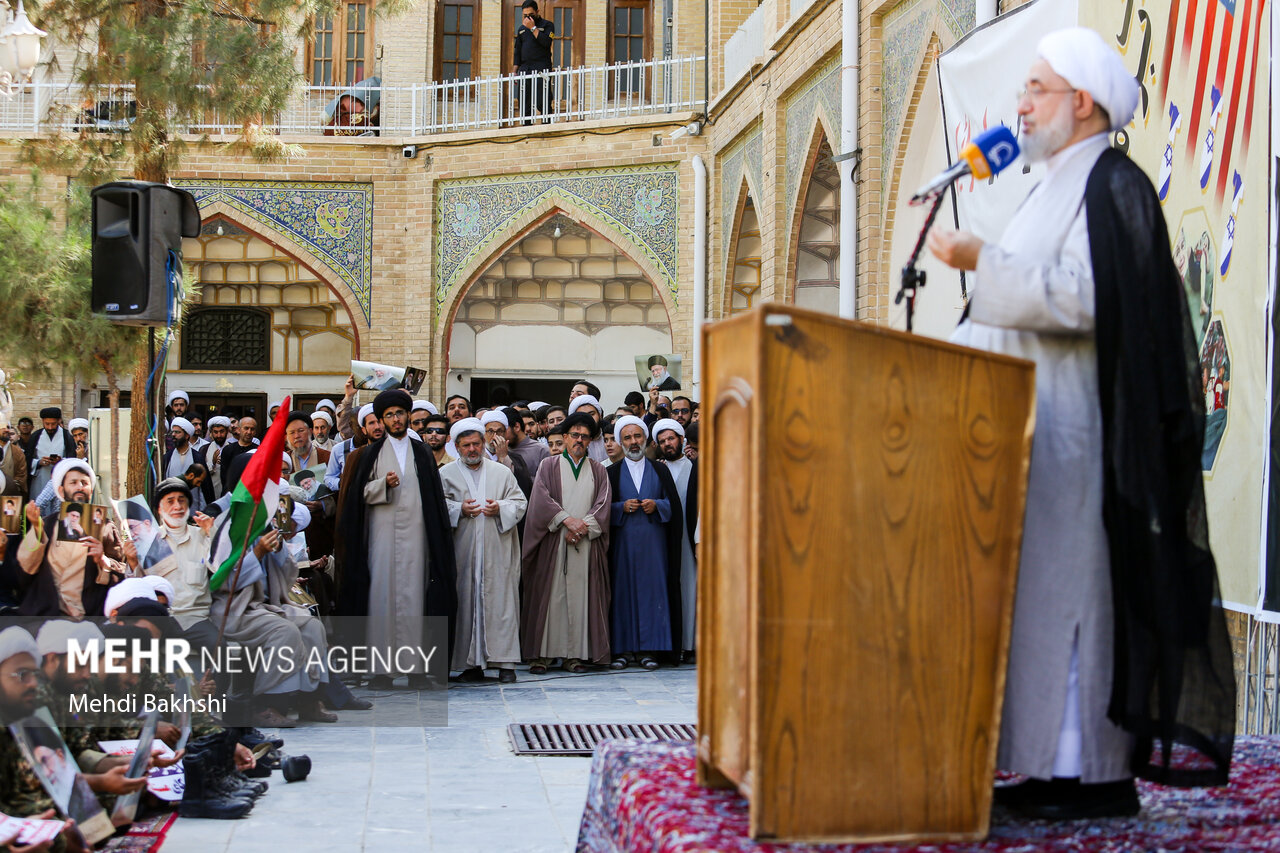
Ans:
[{"label": "large brown wooden podium in front of the speaker", "polygon": [[699,783],[756,839],[984,838],[1034,366],[782,305],[703,352]]}]

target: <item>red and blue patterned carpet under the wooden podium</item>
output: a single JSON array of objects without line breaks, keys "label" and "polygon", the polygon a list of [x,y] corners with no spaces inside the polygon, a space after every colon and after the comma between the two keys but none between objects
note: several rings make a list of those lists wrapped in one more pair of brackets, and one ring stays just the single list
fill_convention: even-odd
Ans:
[{"label": "red and blue patterned carpet under the wooden podium", "polygon": [[997,811],[983,843],[756,844],[746,800],[699,788],[691,743],[602,743],[579,829],[579,853],[1112,853],[1160,850],[1280,852],[1280,738],[1239,738],[1226,788],[1161,788],[1139,783],[1133,818],[1048,824]]}]

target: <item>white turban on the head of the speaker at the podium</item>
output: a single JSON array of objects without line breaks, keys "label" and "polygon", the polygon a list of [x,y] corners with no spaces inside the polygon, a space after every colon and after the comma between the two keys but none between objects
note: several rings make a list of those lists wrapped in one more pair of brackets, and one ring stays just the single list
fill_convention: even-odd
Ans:
[{"label": "white turban on the head of the speaker at the podium", "polygon": [[1119,131],[1133,120],[1140,91],[1124,60],[1096,31],[1068,27],[1039,40],[1036,53],[1074,88],[1093,96],[1107,111],[1111,129]]}]

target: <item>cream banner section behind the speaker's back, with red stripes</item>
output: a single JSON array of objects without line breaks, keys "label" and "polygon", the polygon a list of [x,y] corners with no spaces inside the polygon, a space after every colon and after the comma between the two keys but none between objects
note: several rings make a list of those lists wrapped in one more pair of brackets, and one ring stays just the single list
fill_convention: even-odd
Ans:
[{"label": "cream banner section behind the speaker's back, with red stripes", "polygon": [[1271,111],[1265,0],[1080,0],[1140,85],[1112,137],[1164,206],[1204,400],[1204,500],[1222,601],[1254,611],[1267,452]]}]

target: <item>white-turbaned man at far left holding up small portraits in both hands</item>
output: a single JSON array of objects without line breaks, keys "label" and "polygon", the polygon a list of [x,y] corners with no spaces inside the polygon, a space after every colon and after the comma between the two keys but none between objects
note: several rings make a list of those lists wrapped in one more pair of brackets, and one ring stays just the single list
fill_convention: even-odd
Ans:
[{"label": "white-turbaned man at far left holding up small portraits in both hands", "polygon": [[[83,460],[58,462],[51,482],[63,501],[87,503],[93,494],[93,469]],[[18,562],[28,581],[19,612],[73,620],[87,613],[96,619],[108,588],[132,574],[115,525],[104,524],[99,538],[67,542],[50,535],[58,528],[56,514],[41,517],[35,503],[28,503],[26,512],[29,526],[18,548]]]}]

